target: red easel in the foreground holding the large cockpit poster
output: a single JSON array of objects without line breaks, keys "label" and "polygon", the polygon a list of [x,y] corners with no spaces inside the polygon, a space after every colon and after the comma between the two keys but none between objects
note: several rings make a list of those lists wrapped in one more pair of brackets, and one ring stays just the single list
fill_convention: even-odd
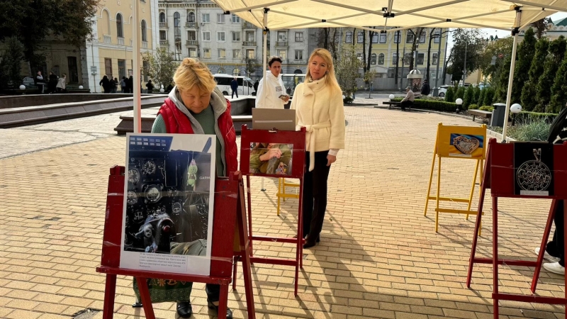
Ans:
[{"label": "red easel in the foreground holding the large cockpit poster", "polygon": [[[250,272],[248,237],[245,236],[246,218],[244,202],[244,183],[240,172],[232,173],[229,179],[217,179],[215,182],[215,210],[213,220],[213,247],[210,259],[210,276],[174,274],[120,268],[120,241],[123,232],[124,167],[111,168],[108,178],[106,198],[106,218],[104,222],[101,266],[96,272],[106,274],[104,289],[103,318],[112,319],[114,297],[116,294],[116,276],[133,276],[140,289],[140,297],[146,318],[155,319],[147,279],[162,278],[177,281],[201,282],[220,285],[218,313],[225,314],[228,303],[228,286],[231,278],[232,259],[235,254],[242,256],[245,279],[248,318],[256,318],[254,310],[254,292]],[[233,251],[235,225],[240,233],[240,252]],[[220,317],[219,317],[220,318]],[[225,318],[225,317],[223,317]]]}]

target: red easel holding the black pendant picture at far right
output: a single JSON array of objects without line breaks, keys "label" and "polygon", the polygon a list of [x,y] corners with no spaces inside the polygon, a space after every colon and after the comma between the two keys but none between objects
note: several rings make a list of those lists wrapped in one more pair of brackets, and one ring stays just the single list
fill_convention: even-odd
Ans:
[{"label": "red easel holding the black pendant picture at far right", "polygon": [[[498,318],[498,301],[522,301],[528,303],[549,303],[549,304],[567,304],[567,293],[565,298],[545,297],[545,296],[525,296],[512,293],[499,293],[498,292],[498,265],[507,264],[510,266],[523,266],[535,267],[534,276],[532,279],[532,293],[535,293],[537,281],[539,279],[539,272],[541,270],[541,263],[544,259],[544,252],[549,233],[551,231],[551,224],[554,220],[554,213],[556,211],[557,201],[563,200],[567,203],[567,142],[563,145],[554,145],[554,196],[526,196],[515,194],[514,182],[514,145],[512,143],[498,143],[494,138],[488,142],[487,160],[485,162],[485,170],[483,181],[481,184],[481,197],[478,203],[478,212],[482,211],[484,195],[486,189],[490,188],[493,197],[493,257],[492,258],[478,258],[475,257],[476,245],[478,240],[478,229],[480,228],[482,214],[478,213],[476,216],[476,225],[473,234],[473,244],[471,247],[471,257],[468,261],[468,274],[466,278],[466,286],[470,288],[471,277],[473,272],[473,264],[493,264],[493,307],[494,318]],[[510,260],[498,258],[498,198],[549,198],[553,199],[551,208],[547,218],[546,227],[537,261],[526,260]],[[567,214],[567,205],[564,207],[564,213]],[[567,219],[564,220],[564,227],[567,229]],[[567,234],[566,234],[567,242]],[[567,254],[567,246],[565,247]],[[567,286],[567,277],[566,277]]]}]

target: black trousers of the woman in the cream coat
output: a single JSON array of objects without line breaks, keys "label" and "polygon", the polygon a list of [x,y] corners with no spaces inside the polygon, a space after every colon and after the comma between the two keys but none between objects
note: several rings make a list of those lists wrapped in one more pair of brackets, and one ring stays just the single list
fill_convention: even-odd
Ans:
[{"label": "black trousers of the woman in the cream coat", "polygon": [[316,240],[323,227],[327,209],[327,166],[329,151],[315,152],[315,167],[309,172],[309,152],[305,152],[305,176],[303,177],[303,237]]}]

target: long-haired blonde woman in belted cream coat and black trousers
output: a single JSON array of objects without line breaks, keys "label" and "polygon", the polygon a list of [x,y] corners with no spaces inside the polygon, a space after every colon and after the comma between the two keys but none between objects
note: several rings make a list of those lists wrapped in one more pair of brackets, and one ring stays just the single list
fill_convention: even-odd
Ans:
[{"label": "long-haired blonde woman in belted cream coat and black trousers", "polygon": [[329,51],[318,48],[309,57],[305,83],[296,87],[291,100],[298,128],[307,130],[303,178],[304,248],[319,242],[327,208],[327,178],[331,164],[344,148],[344,105]]}]

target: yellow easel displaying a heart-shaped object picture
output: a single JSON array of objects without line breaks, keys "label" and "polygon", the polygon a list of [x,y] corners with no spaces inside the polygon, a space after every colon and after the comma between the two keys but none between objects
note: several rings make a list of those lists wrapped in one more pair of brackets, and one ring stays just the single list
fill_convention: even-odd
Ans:
[{"label": "yellow easel displaying a heart-shaped object picture", "polygon": [[[486,125],[480,127],[475,126],[454,126],[443,125],[439,123],[437,126],[437,140],[435,140],[435,148],[433,152],[433,161],[431,163],[430,184],[427,186],[427,198],[425,199],[425,211],[423,216],[427,216],[427,205],[430,200],[435,200],[435,233],[439,229],[439,213],[459,213],[468,215],[476,215],[476,211],[471,211],[471,203],[473,201],[474,187],[478,167],[481,167],[481,179],[483,176],[485,149],[486,149]],[[435,168],[435,157],[439,157],[437,164],[437,194],[431,196],[431,184],[433,181],[433,171]],[[441,158],[460,158],[460,159],[476,159],[476,168],[474,170],[473,184],[471,186],[471,194],[468,198],[451,198],[441,197]],[[480,187],[478,188],[481,189]],[[454,201],[459,203],[467,203],[466,210],[439,208],[439,201]]]}]

